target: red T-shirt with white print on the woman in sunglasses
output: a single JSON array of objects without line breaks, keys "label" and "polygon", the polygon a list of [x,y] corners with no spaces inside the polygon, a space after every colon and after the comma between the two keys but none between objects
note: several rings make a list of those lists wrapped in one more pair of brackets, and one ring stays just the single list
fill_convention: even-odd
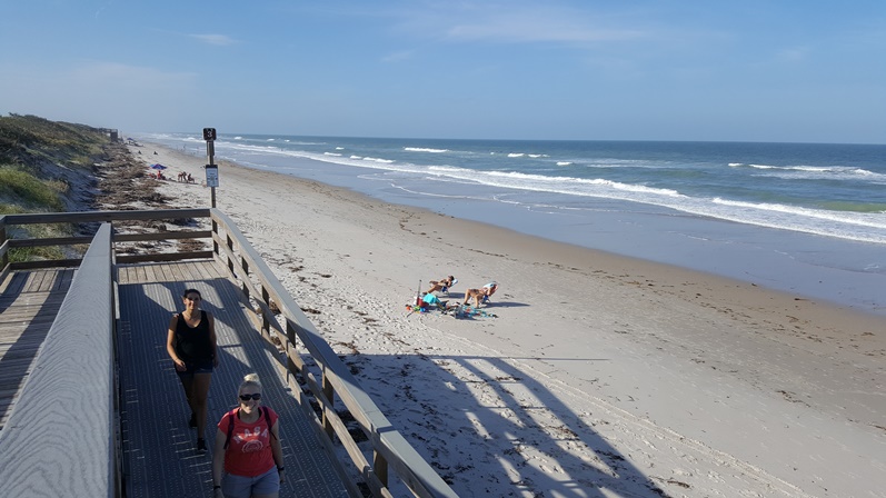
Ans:
[{"label": "red T-shirt with white print on the woman in sunglasses", "polygon": [[[265,414],[270,417],[268,420]],[[235,414],[240,409],[233,410]],[[271,452],[271,427],[277,422],[277,412],[270,408],[259,408],[259,418],[247,424],[238,415],[233,416],[233,434],[225,451],[225,471],[235,476],[256,477],[273,467]],[[227,436],[231,412],[228,411],[218,422],[218,428]]]}]

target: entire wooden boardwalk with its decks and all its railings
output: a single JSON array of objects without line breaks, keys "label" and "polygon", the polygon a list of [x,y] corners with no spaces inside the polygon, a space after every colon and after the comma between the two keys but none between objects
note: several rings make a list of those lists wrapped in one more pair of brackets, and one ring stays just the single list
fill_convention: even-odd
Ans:
[{"label": "entire wooden boardwalk with its decks and all its railings", "polygon": [[[113,225],[191,218],[212,229],[120,232]],[[59,222],[100,225],[92,236],[11,239],[7,231]],[[206,239],[212,250],[131,252],[132,242],[181,239]],[[9,262],[12,249],[81,243],[89,245],[82,258]],[[119,245],[129,246],[118,252]],[[398,496],[408,488],[457,497],[220,210],[0,216],[0,482],[8,494],[212,496],[217,421],[238,405],[242,377],[256,372],[280,415],[281,497],[392,496],[390,478]],[[219,343],[210,451],[202,454],[166,352],[169,319],[188,288],[202,293]]]}]

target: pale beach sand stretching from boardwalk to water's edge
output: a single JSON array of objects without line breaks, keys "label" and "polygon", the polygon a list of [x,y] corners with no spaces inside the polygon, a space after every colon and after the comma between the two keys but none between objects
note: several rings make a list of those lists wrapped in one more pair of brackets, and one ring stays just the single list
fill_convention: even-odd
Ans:
[{"label": "pale beach sand stretching from boardwalk to water's edge", "polygon": [[[159,181],[170,207],[209,206],[206,158],[130,149],[195,177]],[[230,163],[219,181],[460,496],[886,496],[883,317]],[[409,315],[447,275],[442,300],[499,282],[495,317]]]}]

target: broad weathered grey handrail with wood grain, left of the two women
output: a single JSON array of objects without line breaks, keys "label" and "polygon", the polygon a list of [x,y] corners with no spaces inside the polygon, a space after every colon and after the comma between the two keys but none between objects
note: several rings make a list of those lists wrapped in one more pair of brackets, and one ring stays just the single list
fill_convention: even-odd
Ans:
[{"label": "broad weathered grey handrail with wood grain, left of the two women", "polygon": [[103,223],[0,431],[4,496],[120,495],[112,258]]}]

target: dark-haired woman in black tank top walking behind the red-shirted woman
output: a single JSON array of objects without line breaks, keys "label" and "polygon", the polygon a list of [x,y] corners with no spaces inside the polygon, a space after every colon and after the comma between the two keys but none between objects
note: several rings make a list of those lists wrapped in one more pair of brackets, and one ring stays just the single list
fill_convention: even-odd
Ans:
[{"label": "dark-haired woman in black tank top walking behind the red-shirted woman", "polygon": [[206,451],[206,399],[212,369],[218,367],[216,321],[212,315],[200,309],[199,290],[186,290],[182,302],[185,311],[172,315],[169,320],[166,350],[176,363],[176,374],[191,408],[189,426],[197,428],[197,450]]}]

